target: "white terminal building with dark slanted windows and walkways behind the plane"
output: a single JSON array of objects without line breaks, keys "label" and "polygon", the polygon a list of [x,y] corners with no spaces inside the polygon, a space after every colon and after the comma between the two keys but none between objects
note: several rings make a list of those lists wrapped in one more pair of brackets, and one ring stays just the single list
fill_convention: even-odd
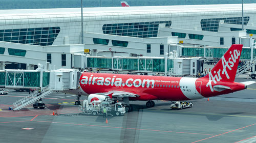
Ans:
[{"label": "white terminal building with dark slanted windows and walkways behind the plane", "polygon": [[244,4],[243,11],[244,17],[239,4],[83,8],[81,32],[80,8],[0,10],[0,70],[40,64],[166,72],[174,59],[220,58],[232,44],[244,44],[241,59],[252,61],[256,4]]}]

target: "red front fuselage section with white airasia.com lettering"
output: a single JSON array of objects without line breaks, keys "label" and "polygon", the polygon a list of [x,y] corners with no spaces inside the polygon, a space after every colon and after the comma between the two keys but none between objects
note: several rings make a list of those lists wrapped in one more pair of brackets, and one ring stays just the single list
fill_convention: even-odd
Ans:
[{"label": "red front fuselage section with white airasia.com lettering", "polygon": [[[106,78],[108,78],[107,81]],[[119,84],[120,79],[122,82],[121,86]],[[189,100],[180,90],[180,79],[181,77],[84,72],[80,77],[80,86],[82,90],[88,94],[104,93],[109,91],[124,91],[140,96],[136,98],[130,98],[131,100]],[[154,87],[152,87],[152,80],[154,80]],[[101,82],[97,83],[98,81]],[[102,83],[102,81],[104,82]],[[111,82],[111,84],[105,85],[105,83],[108,81]],[[126,85],[126,81],[128,85]],[[137,85],[139,82],[140,84]],[[136,84],[134,85],[134,83]],[[146,84],[148,84],[148,87],[146,87]]]}]

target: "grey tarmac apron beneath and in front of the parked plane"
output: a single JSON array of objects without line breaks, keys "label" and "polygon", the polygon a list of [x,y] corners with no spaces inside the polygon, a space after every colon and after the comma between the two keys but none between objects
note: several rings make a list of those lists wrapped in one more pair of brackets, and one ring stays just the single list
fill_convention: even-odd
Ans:
[{"label": "grey tarmac apron beneath and in front of the parked plane", "polygon": [[0,142],[256,142],[255,92],[252,84],[209,101],[193,100],[194,106],[183,110],[170,110],[170,101],[155,101],[152,108],[133,101],[134,111],[108,116],[106,123],[102,116],[78,115],[76,96],[63,93],[46,96],[43,110],[32,105],[8,110],[28,95],[10,90],[0,95]]}]

